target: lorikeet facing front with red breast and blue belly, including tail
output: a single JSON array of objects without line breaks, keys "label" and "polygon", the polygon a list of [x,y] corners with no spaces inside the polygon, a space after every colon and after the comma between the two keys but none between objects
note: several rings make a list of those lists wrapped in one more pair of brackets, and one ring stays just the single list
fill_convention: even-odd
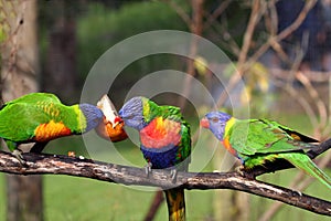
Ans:
[{"label": "lorikeet facing front with red breast and blue belly, including tail", "polygon": [[[119,110],[125,125],[139,130],[140,150],[152,169],[186,171],[191,154],[191,131],[180,108],[159,106],[146,97],[134,97]],[[185,220],[184,190],[164,190],[169,220]]]}]

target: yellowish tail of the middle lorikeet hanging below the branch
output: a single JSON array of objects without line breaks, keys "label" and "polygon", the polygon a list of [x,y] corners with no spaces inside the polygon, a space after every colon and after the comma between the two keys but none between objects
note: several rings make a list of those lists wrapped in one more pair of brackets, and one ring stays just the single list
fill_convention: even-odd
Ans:
[{"label": "yellowish tail of the middle lorikeet hanging below the branch", "polygon": [[185,220],[185,198],[184,198],[184,189],[174,188],[164,190],[168,212],[169,212],[169,221],[183,221]]}]

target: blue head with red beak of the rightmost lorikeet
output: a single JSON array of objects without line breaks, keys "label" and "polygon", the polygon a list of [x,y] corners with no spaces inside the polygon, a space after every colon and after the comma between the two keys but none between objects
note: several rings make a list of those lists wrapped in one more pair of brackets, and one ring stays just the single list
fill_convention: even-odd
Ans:
[{"label": "blue head with red beak of the rightmost lorikeet", "polygon": [[201,119],[200,125],[209,128],[217,139],[223,140],[225,126],[231,115],[222,112],[210,112]]}]

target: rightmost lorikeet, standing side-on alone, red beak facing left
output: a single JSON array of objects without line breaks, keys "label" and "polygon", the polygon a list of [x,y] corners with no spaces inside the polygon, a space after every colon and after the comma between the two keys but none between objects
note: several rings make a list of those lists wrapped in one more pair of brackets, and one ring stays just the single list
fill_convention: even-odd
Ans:
[{"label": "rightmost lorikeet, standing side-on alone, red beak facing left", "polygon": [[268,119],[237,119],[222,112],[211,112],[201,119],[224,147],[241,159],[246,169],[267,161],[285,159],[331,188],[331,179],[305,154],[318,140]]}]

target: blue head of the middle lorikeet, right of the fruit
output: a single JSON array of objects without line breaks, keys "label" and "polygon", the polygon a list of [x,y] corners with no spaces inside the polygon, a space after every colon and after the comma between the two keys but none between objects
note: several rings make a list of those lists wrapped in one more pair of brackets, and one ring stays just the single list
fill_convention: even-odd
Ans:
[{"label": "blue head of the middle lorikeet, right of the fruit", "polygon": [[118,112],[126,126],[135,129],[142,129],[146,126],[143,117],[143,106],[147,105],[147,98],[137,96],[129,99]]}]

